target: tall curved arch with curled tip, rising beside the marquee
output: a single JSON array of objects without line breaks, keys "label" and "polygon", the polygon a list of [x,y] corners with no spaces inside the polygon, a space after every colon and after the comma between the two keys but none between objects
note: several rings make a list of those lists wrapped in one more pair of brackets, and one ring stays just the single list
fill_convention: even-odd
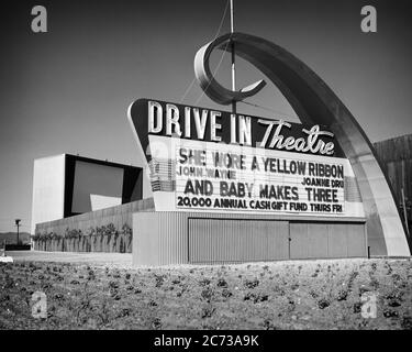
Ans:
[{"label": "tall curved arch with curled tip, rising beside the marquee", "polygon": [[[264,38],[243,33],[225,34],[204,45],[196,55],[194,72],[204,92],[218,103],[243,100],[263,88],[256,84],[246,92],[222,87],[212,76],[209,57],[214,48],[246,59],[282,92],[299,119],[308,124],[326,125],[349,160],[367,218],[368,245],[372,255],[410,256],[410,248],[392,189],[375,156],[365,132],[331,88],[303,62]],[[230,102],[227,102],[227,99]]]}]

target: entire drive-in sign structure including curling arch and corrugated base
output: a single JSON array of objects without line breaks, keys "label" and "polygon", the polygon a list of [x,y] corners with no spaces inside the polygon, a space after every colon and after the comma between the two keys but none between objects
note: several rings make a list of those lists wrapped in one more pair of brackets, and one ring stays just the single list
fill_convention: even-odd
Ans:
[{"label": "entire drive-in sign structure including curling arch and corrugated base", "polygon": [[133,215],[133,263],[238,263],[410,256],[388,178],[355,118],[304,63],[242,33],[199,50],[196,76],[215,102],[214,48],[248,61],[283,94],[300,123],[152,99],[127,117],[147,162],[155,212]]}]

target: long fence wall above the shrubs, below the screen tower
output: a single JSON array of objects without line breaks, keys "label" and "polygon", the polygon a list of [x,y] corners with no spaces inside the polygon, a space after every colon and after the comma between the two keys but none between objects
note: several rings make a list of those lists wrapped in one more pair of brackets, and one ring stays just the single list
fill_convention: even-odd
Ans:
[{"label": "long fence wall above the shrubs, below the screen tower", "polygon": [[35,232],[54,232],[64,235],[67,228],[86,232],[90,228],[107,226],[109,223],[113,223],[118,230],[121,230],[125,223],[132,228],[133,212],[151,210],[154,210],[153,198],[147,198],[70,218],[38,223]]}]

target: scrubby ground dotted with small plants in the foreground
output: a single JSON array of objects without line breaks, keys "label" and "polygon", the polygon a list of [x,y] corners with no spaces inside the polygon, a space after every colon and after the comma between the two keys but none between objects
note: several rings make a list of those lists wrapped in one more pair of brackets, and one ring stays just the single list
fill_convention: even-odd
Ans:
[{"label": "scrubby ground dotted with small plants in the foreground", "polygon": [[[410,260],[121,268],[0,264],[0,329],[411,329]],[[47,318],[32,317],[32,294]],[[377,295],[377,318],[360,296]]]}]

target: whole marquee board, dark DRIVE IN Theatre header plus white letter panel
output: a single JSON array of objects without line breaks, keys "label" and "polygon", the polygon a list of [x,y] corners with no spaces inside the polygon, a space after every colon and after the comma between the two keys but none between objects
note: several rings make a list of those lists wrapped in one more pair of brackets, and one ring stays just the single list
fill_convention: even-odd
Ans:
[{"label": "whole marquee board, dark DRIVE IN Theatre header plus white letter panel", "polygon": [[129,116],[157,211],[364,216],[350,164],[321,125],[148,99]]}]

